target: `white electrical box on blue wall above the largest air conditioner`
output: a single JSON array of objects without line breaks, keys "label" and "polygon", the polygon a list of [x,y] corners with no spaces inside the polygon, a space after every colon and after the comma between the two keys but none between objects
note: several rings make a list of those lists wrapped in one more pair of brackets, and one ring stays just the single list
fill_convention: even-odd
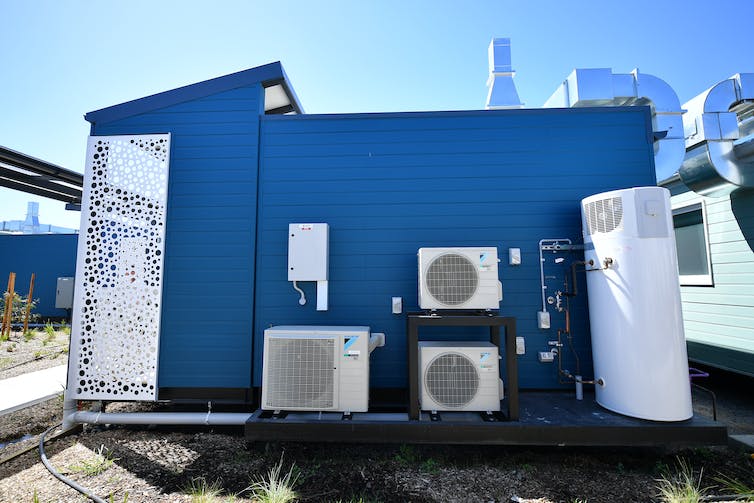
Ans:
[{"label": "white electrical box on blue wall above the largest air conditioner", "polygon": [[288,225],[288,281],[327,281],[330,226]]}]

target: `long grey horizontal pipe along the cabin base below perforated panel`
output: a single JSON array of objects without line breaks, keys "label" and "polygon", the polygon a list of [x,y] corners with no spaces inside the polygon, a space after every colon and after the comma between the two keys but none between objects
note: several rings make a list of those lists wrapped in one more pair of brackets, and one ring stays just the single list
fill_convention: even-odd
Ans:
[{"label": "long grey horizontal pipe along the cabin base below perforated panel", "polygon": [[243,426],[248,412],[88,412],[66,416],[69,424],[165,424],[196,426]]}]

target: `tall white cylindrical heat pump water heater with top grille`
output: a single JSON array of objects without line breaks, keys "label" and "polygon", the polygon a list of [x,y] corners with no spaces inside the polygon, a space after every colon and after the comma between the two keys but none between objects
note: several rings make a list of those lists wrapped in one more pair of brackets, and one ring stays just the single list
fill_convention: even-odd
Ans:
[{"label": "tall white cylindrical heat pump water heater with top grille", "polygon": [[692,415],[670,193],[616,190],[581,202],[597,402],[627,416]]}]

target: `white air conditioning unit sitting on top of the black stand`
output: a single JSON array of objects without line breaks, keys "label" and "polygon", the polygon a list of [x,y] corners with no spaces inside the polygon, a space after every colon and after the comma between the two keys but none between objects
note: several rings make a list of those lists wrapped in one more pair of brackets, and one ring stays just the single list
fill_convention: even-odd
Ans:
[{"label": "white air conditioning unit sitting on top of the black stand", "polygon": [[419,248],[421,309],[500,309],[497,248]]}]

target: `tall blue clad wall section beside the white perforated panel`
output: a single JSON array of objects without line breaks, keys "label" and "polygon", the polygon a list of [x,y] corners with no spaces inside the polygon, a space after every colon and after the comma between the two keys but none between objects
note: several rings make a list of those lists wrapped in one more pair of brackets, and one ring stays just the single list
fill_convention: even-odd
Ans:
[{"label": "tall blue clad wall section beside the white perforated panel", "polygon": [[[168,92],[167,98],[155,98],[155,103],[170,103],[158,109],[137,100],[137,112],[146,111],[136,115],[129,114],[128,107],[122,110],[122,105],[87,115],[95,121],[94,135],[172,134],[161,388],[248,388],[251,383],[264,90],[252,83],[210,91],[217,92],[184,93],[190,101],[177,103],[180,93]],[[155,99],[147,105],[154,105]],[[104,122],[98,122],[100,118]]]}]

